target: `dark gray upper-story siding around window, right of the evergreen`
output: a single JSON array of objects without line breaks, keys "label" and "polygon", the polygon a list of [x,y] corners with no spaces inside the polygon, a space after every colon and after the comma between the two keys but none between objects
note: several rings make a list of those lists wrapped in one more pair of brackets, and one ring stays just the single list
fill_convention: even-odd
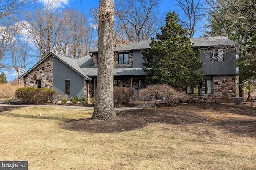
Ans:
[{"label": "dark gray upper-story siding around window, right of the evergreen", "polygon": [[224,61],[210,59],[210,50],[201,51],[201,68],[205,75],[234,75],[236,74],[236,51],[224,52]]}]

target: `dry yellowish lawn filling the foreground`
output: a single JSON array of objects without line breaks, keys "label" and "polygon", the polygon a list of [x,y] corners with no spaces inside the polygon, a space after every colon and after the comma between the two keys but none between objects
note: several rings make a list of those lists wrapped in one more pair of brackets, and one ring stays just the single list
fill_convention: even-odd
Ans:
[{"label": "dry yellowish lawn filling the foreground", "polygon": [[256,139],[207,123],[150,123],[122,133],[81,133],[58,128],[63,121],[91,115],[92,111],[56,107],[2,112],[0,160],[28,160],[31,170],[256,169]]}]

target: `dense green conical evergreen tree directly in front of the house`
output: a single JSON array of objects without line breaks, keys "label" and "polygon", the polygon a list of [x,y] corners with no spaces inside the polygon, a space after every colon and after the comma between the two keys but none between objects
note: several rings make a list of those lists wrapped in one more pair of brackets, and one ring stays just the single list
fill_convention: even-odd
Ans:
[{"label": "dense green conical evergreen tree directly in front of the house", "polygon": [[200,84],[200,51],[194,50],[188,30],[178,24],[178,15],[168,12],[161,33],[152,39],[150,49],[142,51],[148,84],[168,84],[173,87]]}]

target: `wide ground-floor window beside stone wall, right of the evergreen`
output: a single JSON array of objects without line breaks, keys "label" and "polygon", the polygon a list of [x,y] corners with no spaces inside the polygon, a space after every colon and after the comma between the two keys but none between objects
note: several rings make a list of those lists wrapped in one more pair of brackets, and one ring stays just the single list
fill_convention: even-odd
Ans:
[{"label": "wide ground-floor window beside stone wall, right of the evergreen", "polygon": [[187,86],[188,94],[212,94],[212,79],[205,79],[205,81],[193,88]]}]

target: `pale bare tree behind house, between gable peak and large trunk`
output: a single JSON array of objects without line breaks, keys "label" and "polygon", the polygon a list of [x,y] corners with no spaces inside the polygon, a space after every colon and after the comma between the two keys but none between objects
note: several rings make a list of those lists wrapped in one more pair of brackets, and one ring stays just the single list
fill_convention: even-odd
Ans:
[{"label": "pale bare tree behind house, between gable peak and large trunk", "polygon": [[86,14],[66,9],[62,13],[61,23],[58,42],[64,56],[77,59],[87,55],[91,49],[93,27]]}]

